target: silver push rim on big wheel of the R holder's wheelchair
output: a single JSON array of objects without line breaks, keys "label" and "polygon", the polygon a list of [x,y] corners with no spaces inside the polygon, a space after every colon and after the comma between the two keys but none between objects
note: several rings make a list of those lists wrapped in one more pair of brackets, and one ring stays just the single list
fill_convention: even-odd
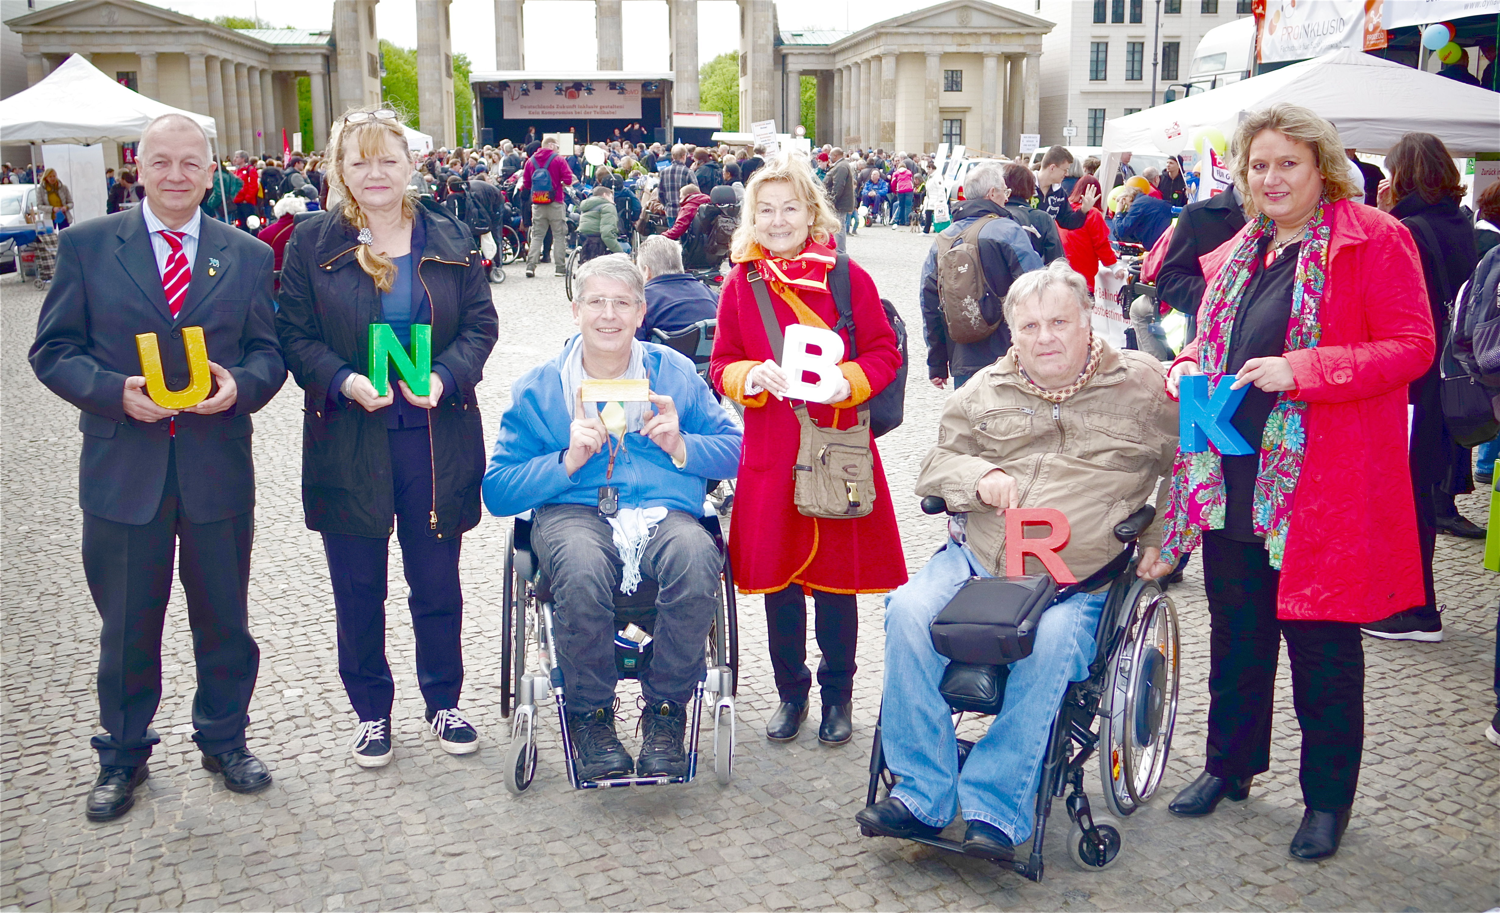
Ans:
[{"label": "silver push rim on big wheel of the R holder's wheelchair", "polygon": [[1125,787],[1137,805],[1144,805],[1167,772],[1178,721],[1180,648],[1172,597],[1158,594],[1146,604],[1131,645],[1131,669],[1125,694]]}]

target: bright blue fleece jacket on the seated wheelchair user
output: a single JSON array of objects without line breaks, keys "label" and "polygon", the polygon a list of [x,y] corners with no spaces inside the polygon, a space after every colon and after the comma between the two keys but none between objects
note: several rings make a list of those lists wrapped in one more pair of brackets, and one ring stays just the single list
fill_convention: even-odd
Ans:
[{"label": "bright blue fleece jacket on the seated wheelchair user", "polygon": [[[500,418],[500,436],[484,471],[484,507],[512,517],[543,504],[598,504],[598,489],[620,489],[620,507],[666,507],[694,517],[704,513],[704,484],[734,478],[740,468],[740,427],[718,397],[698,376],[693,361],[666,346],[646,346],[651,391],[670,396],[687,442],[687,463],[678,469],[650,438],[626,435],[606,483],[608,451],[600,451],[572,477],[562,468],[572,411],[562,394],[562,358],[538,364],[510,388],[510,408]],[[570,346],[564,346],[564,352]]]}]

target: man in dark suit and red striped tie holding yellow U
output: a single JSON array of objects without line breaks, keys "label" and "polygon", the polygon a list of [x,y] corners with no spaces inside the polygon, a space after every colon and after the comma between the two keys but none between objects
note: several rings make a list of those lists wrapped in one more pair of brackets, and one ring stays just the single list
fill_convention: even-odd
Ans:
[{"label": "man in dark suit and red striped tie holding yellow U", "polygon": [[[195,121],[168,114],[141,135],[146,201],[60,235],[30,360],[78,406],[78,501],[88,591],[102,619],[100,772],[87,817],[124,814],[160,739],[162,625],[174,550],[188,598],[202,766],[250,793],[272,775],[244,747],[260,648],[249,631],[255,469],[250,412],[286,379],[272,325],[272,249],[202,216],[214,162]],[[168,390],[189,385],[184,327],[201,327],[213,388],[186,409],[146,393],[136,334],[154,333]]]}]

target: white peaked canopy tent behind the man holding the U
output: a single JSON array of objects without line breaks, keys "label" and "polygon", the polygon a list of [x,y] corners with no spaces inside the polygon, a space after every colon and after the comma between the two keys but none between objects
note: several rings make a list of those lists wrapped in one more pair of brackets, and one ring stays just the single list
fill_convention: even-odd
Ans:
[{"label": "white peaked canopy tent behind the man holding the U", "polygon": [[6,142],[135,142],[162,114],[182,114],[219,132],[207,114],[164,105],[130,91],[74,54],[45,79],[0,100],[0,138]]}]

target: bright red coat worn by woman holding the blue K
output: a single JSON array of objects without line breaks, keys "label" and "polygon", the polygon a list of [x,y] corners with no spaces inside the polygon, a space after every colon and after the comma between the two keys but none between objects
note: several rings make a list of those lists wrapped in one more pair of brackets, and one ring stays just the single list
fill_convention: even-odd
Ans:
[{"label": "bright red coat worn by woman holding the blue K", "polygon": [[[1420,606],[1422,556],[1407,463],[1407,384],[1432,364],[1422,261],[1401,222],[1332,205],[1317,346],[1287,352],[1308,403],[1306,454],[1281,559],[1276,618],[1372,622]],[[1250,226],[1203,256],[1214,279]],[[1198,313],[1198,325],[1206,325]],[[1196,360],[1198,345],[1184,349]]]}]

